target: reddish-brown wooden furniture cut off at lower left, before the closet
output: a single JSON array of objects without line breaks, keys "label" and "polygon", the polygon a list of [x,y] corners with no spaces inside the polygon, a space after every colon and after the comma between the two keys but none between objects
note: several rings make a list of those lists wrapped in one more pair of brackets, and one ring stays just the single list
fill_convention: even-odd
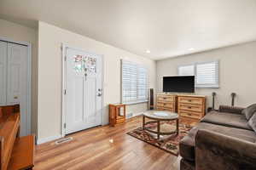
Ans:
[{"label": "reddish-brown wooden furniture cut off at lower left, before the closet", "polygon": [[34,135],[19,137],[20,105],[0,106],[0,169],[17,170],[34,167]]}]

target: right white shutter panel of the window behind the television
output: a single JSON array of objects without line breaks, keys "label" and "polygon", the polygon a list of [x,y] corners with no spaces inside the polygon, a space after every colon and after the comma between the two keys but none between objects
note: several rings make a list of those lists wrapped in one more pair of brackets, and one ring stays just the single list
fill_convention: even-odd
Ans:
[{"label": "right white shutter panel of the window behind the television", "polygon": [[218,61],[196,65],[196,87],[218,88]]}]

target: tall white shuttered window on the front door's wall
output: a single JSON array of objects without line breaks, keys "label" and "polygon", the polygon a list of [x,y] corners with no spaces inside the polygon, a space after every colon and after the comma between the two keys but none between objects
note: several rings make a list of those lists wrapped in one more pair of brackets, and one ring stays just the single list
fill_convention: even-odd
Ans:
[{"label": "tall white shuttered window on the front door's wall", "polygon": [[148,101],[148,71],[143,65],[121,60],[122,103],[131,104]]}]

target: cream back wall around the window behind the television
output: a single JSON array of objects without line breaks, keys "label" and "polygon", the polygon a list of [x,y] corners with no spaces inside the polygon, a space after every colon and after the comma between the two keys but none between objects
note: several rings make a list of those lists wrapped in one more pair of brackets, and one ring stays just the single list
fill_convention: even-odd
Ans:
[{"label": "cream back wall around the window behind the television", "polygon": [[189,54],[157,61],[157,91],[162,92],[162,77],[177,75],[178,65],[219,60],[220,88],[197,88],[196,94],[207,95],[212,105],[212,92],[217,92],[218,105],[230,105],[230,94],[237,94],[235,105],[247,106],[256,103],[256,42],[248,42],[228,48]]}]

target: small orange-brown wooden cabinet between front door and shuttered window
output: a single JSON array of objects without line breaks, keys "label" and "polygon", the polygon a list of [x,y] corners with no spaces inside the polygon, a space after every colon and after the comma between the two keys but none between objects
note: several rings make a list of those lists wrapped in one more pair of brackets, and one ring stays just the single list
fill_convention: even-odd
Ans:
[{"label": "small orange-brown wooden cabinet between front door and shuttered window", "polygon": [[109,124],[114,127],[119,123],[125,122],[125,107],[123,104],[110,104],[109,105]]}]

